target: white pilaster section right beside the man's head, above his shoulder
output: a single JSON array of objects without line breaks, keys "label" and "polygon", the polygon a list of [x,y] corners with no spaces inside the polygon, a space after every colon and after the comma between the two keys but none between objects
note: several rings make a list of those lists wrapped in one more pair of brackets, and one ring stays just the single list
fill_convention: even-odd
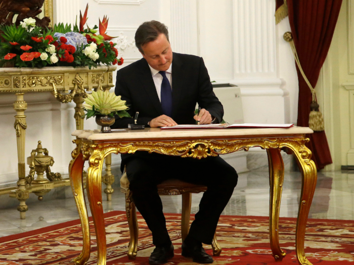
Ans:
[{"label": "white pilaster section right beside the man's head, above his shoulder", "polygon": [[198,54],[197,2],[170,2],[171,25],[168,29],[172,50],[182,54]]}]

